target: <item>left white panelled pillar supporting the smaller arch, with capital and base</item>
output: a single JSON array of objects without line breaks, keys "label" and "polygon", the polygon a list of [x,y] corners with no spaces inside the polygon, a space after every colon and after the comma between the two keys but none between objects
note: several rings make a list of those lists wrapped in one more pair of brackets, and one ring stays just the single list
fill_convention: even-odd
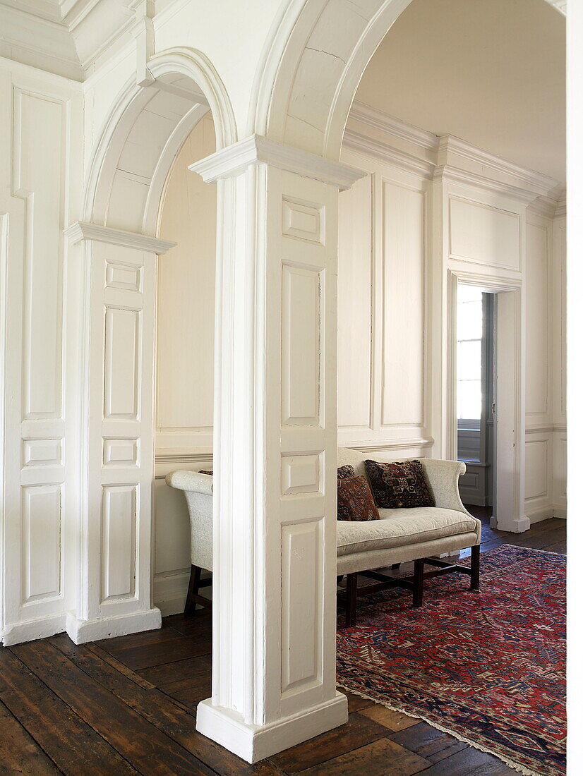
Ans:
[{"label": "left white panelled pillar supporting the smaller arch, with capital and base", "polygon": [[156,255],[172,243],[75,223],[85,262],[85,442],[75,643],[158,628],[151,605]]}]

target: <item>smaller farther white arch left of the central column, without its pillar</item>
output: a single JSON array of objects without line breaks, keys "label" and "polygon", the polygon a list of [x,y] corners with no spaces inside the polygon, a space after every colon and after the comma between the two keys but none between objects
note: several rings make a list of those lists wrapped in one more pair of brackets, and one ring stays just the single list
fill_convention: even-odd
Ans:
[{"label": "smaller farther white arch left of the central column, without its pillar", "polygon": [[[238,136],[231,101],[204,54],[168,49],[151,57],[148,70],[152,84],[127,82],[102,126],[89,165],[82,220],[154,236],[172,161],[196,123],[212,111],[217,151]],[[132,133],[141,142],[134,159]],[[127,196],[128,188],[133,196]],[[116,211],[122,198],[123,208]]]}]

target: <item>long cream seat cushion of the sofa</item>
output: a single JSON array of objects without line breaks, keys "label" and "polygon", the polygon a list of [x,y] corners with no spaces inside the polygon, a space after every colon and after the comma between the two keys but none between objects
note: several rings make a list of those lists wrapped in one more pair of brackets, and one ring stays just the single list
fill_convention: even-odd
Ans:
[{"label": "long cream seat cushion of the sofa", "polygon": [[370,549],[402,547],[418,542],[431,542],[444,536],[477,532],[477,520],[463,512],[436,507],[380,509],[380,520],[370,522],[337,522],[338,555],[349,555]]}]

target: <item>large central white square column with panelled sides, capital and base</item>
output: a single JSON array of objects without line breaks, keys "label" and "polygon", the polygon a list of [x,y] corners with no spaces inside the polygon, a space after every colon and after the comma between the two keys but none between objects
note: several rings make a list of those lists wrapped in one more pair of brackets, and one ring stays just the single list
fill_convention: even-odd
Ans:
[{"label": "large central white square column with panelled sides, capital and base", "polygon": [[361,173],[249,137],[219,182],[213,691],[249,762],[341,725],[335,690],[338,189]]}]

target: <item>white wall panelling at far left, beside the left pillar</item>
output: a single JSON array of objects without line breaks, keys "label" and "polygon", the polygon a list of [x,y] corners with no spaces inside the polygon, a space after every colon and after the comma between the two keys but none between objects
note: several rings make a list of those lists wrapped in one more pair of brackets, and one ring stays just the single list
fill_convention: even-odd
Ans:
[{"label": "white wall panelling at far left, beside the left pillar", "polygon": [[[64,628],[75,605],[75,392],[65,387],[68,255],[62,228],[79,195],[78,88],[3,62],[2,215],[5,489],[0,638]],[[73,274],[75,274],[73,272]],[[72,323],[72,321],[71,321]],[[75,324],[73,324],[75,327]],[[5,346],[5,349],[4,349]]]}]

